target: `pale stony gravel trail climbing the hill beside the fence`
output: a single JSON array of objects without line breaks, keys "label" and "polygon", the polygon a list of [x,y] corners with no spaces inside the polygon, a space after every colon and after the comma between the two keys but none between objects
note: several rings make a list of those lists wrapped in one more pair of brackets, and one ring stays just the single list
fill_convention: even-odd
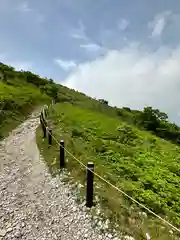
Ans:
[{"label": "pale stony gravel trail climbing the hill beside the fence", "polygon": [[36,146],[38,113],[0,142],[0,239],[118,239],[100,234]]}]

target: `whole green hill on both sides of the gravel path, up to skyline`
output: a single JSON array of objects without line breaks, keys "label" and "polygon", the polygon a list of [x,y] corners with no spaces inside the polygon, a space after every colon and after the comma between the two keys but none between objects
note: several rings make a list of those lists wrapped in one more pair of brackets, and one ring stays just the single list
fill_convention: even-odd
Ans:
[{"label": "whole green hill on both sides of the gravel path, up to skyline", "polygon": [[[0,64],[0,136],[19,124],[35,107],[50,103],[48,121],[53,135],[65,139],[66,148],[84,164],[95,163],[95,171],[155,213],[180,226],[179,133],[165,113],[151,107],[143,111],[118,108],[96,100],[52,79],[28,71],[15,71]],[[37,142],[49,168],[59,168],[59,147]],[[85,169],[67,155],[72,182],[85,183]],[[146,239],[175,239],[170,227],[95,178],[103,216],[121,233]],[[84,188],[80,194],[84,196]],[[95,213],[93,213],[95,214]],[[116,224],[115,224],[116,223]]]}]

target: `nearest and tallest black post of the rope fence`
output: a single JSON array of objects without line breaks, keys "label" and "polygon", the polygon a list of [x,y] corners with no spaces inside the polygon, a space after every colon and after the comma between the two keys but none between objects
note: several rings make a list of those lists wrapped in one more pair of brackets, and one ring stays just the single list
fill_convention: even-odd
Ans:
[{"label": "nearest and tallest black post of the rope fence", "polygon": [[93,206],[93,180],[94,180],[94,163],[87,164],[87,186],[86,186],[86,206]]}]

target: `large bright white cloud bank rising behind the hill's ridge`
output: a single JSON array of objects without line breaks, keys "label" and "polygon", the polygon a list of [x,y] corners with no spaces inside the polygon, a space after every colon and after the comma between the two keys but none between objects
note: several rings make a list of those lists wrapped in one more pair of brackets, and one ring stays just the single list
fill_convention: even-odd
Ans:
[{"label": "large bright white cloud bank rising behind the hill's ridge", "polygon": [[162,47],[156,52],[142,49],[132,44],[111,50],[104,57],[80,64],[64,84],[104,98],[111,105],[133,109],[151,105],[175,119],[180,103],[180,47]]}]

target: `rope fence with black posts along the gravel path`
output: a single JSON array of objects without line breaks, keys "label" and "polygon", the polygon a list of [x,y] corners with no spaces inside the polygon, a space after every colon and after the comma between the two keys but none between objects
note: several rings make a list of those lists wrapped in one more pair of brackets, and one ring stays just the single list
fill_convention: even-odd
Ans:
[{"label": "rope fence with black posts along the gravel path", "polygon": [[124,196],[126,196],[132,202],[136,203],[141,208],[145,209],[147,212],[151,213],[153,216],[155,216],[156,218],[161,220],[163,223],[165,223],[166,225],[170,226],[172,229],[174,229],[175,231],[180,233],[180,229],[179,228],[175,227],[173,224],[171,224],[170,222],[168,222],[164,218],[160,217],[158,214],[156,214],[155,212],[150,210],[148,207],[146,207],[142,203],[138,202],[133,197],[129,196],[127,193],[125,193],[124,191],[122,191],[121,189],[119,189],[118,187],[116,187],[115,185],[110,183],[109,181],[107,181],[105,178],[103,178],[102,176],[97,174],[94,171],[94,163],[88,162],[88,164],[86,166],[77,157],[75,157],[70,151],[68,151],[64,147],[64,140],[61,140],[59,142],[53,136],[52,129],[47,126],[47,122],[46,122],[46,120],[44,118],[44,115],[47,116],[47,109],[44,109],[44,112],[42,111],[41,115],[40,115],[40,122],[41,122],[42,130],[43,130],[43,138],[46,138],[46,135],[48,133],[48,144],[49,144],[49,146],[52,145],[52,140],[54,140],[56,142],[56,144],[59,146],[59,148],[60,148],[60,168],[65,167],[66,163],[65,163],[65,154],[64,154],[64,152],[66,152],[67,154],[69,154],[69,156],[71,156],[74,160],[76,160],[82,167],[84,167],[87,170],[87,187],[86,187],[86,206],[87,207],[92,207],[93,206],[93,177],[95,175],[97,178],[101,179],[103,182],[105,182],[106,184],[108,184],[109,186],[111,186],[112,188],[114,188],[115,190],[117,190],[118,192],[123,194]]}]

